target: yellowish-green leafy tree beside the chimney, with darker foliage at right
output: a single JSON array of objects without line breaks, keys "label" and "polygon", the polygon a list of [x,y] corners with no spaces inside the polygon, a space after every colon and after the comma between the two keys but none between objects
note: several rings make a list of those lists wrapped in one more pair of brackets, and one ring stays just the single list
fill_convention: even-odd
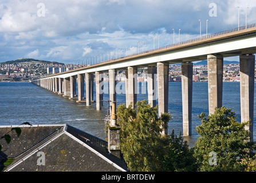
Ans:
[{"label": "yellowish-green leafy tree beside the chimney, with darker foliage at right", "polygon": [[[182,137],[162,136],[171,115],[157,115],[157,106],[138,101],[136,108],[124,104],[117,108],[117,124],[121,127],[120,144],[124,160],[131,171],[179,171],[187,170],[186,161],[191,151]],[[192,155],[192,153],[190,154]]]}]

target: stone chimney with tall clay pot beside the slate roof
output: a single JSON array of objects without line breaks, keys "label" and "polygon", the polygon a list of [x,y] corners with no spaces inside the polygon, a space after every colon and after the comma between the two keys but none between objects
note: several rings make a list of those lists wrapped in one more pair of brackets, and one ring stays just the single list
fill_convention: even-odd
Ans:
[{"label": "stone chimney with tall clay pot beside the slate roof", "polygon": [[112,102],[111,121],[108,128],[108,149],[111,154],[121,157],[120,126],[116,124],[116,102]]}]

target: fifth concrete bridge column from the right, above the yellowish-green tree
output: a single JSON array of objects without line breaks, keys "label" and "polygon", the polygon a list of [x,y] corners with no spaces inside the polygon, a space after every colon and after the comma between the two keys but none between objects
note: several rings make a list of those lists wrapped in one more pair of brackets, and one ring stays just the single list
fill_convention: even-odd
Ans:
[{"label": "fifth concrete bridge column from the right, above the yellowish-green tree", "polygon": [[156,66],[148,66],[148,104],[156,106]]}]

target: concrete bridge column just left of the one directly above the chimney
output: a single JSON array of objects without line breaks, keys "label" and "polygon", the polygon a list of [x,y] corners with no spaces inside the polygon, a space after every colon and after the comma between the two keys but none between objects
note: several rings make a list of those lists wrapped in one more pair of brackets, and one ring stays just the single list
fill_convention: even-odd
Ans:
[{"label": "concrete bridge column just left of the one directly above the chimney", "polygon": [[103,103],[103,74],[96,71],[95,72],[95,81],[96,81],[96,109],[101,110]]}]

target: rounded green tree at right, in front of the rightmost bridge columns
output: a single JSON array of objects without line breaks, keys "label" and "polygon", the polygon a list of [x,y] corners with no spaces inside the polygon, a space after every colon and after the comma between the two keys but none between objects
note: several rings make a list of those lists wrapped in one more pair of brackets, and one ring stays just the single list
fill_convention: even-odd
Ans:
[{"label": "rounded green tree at right, in front of the rightmost bridge columns", "polygon": [[[255,145],[249,141],[250,132],[245,129],[248,122],[239,124],[235,113],[225,107],[215,108],[215,113],[207,117],[202,113],[199,118],[202,125],[196,130],[200,137],[194,145],[194,156],[199,171],[255,169],[251,167],[255,165]],[[210,163],[212,152],[216,155],[215,165]]]}]

